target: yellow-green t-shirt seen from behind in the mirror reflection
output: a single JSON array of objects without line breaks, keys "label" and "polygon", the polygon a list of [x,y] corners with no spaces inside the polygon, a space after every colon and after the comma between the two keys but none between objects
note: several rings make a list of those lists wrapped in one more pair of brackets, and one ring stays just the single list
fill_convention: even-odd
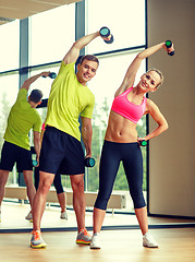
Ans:
[{"label": "yellow-green t-shirt seen from behind in the mirror reflection", "polygon": [[41,118],[37,110],[31,107],[26,96],[27,90],[21,88],[11,108],[3,139],[25,150],[31,150],[28,132],[32,128],[33,131],[40,132]]}]

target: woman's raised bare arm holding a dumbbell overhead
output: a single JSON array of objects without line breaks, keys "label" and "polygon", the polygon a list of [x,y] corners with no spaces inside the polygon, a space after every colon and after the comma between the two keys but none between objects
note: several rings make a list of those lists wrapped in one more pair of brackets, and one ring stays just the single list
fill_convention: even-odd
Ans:
[{"label": "woman's raised bare arm holding a dumbbell overhead", "polygon": [[135,82],[136,73],[137,73],[139,67],[141,67],[142,61],[144,59],[146,59],[147,57],[151,56],[153,53],[157,52],[161,48],[164,48],[168,51],[168,48],[166,47],[166,43],[161,43],[161,44],[158,44],[156,46],[149,47],[149,48],[145,49],[144,51],[141,51],[135,57],[135,59],[130,64],[127,71],[126,71],[126,74],[123,79],[123,82],[122,82],[121,86],[117,90],[117,92],[114,94],[114,97],[122,94],[129,87],[133,86],[133,84]]}]

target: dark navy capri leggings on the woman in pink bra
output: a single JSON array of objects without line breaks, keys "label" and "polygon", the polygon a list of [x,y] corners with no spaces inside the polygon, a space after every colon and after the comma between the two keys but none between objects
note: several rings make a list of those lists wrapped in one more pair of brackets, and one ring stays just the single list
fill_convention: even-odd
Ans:
[{"label": "dark navy capri leggings on the woman in pink bra", "polygon": [[138,143],[105,141],[99,166],[99,192],[95,202],[96,209],[107,210],[121,160],[134,209],[146,206],[143,195],[143,156]]}]

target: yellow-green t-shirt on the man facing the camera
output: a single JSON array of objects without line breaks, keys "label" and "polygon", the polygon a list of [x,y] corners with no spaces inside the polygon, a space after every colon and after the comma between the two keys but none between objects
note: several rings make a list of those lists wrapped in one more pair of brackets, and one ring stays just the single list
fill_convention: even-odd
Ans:
[{"label": "yellow-green t-shirt on the man facing the camera", "polygon": [[51,85],[46,126],[52,126],[81,141],[80,114],[92,118],[94,105],[95,96],[77,81],[74,63],[64,64],[62,61]]}]

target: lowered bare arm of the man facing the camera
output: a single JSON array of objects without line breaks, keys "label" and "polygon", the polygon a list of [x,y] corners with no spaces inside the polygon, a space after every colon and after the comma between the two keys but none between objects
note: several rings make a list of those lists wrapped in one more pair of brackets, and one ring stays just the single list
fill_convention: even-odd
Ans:
[{"label": "lowered bare arm of the man facing the camera", "polygon": [[86,150],[86,157],[92,157],[93,127],[90,118],[82,118],[82,139]]}]

